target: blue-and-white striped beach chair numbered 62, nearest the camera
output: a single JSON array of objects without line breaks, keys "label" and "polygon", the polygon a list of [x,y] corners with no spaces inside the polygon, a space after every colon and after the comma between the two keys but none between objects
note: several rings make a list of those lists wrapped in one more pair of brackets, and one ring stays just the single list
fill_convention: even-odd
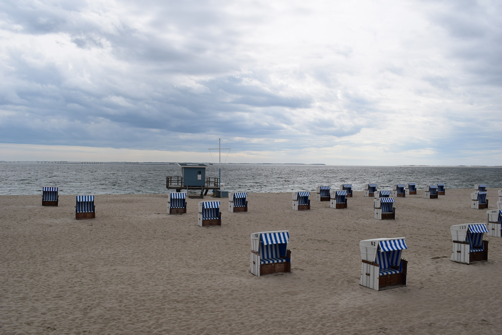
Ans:
[{"label": "blue-and-white striped beach chair numbered 62, nearest the camera", "polygon": [[405,238],[372,239],[359,242],[361,279],[359,285],[381,291],[406,286],[408,261],[401,258],[408,247]]}]

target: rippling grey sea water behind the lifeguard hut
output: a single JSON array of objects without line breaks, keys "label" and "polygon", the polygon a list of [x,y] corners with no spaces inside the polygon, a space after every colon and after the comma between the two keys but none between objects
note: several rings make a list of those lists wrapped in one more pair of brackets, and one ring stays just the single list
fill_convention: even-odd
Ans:
[{"label": "rippling grey sea water behind the lifeguard hut", "polygon": [[[162,194],[166,176],[181,175],[169,164],[38,164],[0,163],[0,194],[41,194],[43,186],[58,186],[60,194]],[[206,177],[218,177],[218,164]],[[225,190],[242,192],[315,191],[318,185],[338,189],[350,183],[392,189],[396,183],[415,182],[417,188],[444,182],[446,188],[474,188],[486,184],[502,188],[502,167],[336,166],[289,164],[222,164]]]}]

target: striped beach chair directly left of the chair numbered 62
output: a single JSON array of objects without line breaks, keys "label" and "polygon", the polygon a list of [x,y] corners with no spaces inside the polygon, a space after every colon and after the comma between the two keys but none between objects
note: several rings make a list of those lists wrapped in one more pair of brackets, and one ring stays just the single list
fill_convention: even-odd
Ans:
[{"label": "striped beach chair directly left of the chair numbered 62", "polygon": [[262,276],[271,273],[291,273],[289,231],[251,234],[251,273]]}]

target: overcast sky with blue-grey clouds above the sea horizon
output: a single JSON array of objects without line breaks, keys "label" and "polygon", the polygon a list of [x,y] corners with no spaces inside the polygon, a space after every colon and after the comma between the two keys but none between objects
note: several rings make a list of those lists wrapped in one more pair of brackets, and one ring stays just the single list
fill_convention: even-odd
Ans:
[{"label": "overcast sky with blue-grey clouds above the sea horizon", "polygon": [[0,3],[0,160],[502,165],[497,1]]}]

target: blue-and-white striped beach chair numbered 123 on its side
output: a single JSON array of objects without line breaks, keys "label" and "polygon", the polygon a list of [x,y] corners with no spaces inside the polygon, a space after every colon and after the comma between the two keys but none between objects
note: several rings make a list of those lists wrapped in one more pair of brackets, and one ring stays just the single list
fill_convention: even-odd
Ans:
[{"label": "blue-and-white striped beach chair numbered 123 on its side", "polygon": [[453,240],[453,252],[450,260],[471,264],[488,260],[488,241],[483,240],[484,233],[489,233],[485,224],[466,224],[450,227]]}]

